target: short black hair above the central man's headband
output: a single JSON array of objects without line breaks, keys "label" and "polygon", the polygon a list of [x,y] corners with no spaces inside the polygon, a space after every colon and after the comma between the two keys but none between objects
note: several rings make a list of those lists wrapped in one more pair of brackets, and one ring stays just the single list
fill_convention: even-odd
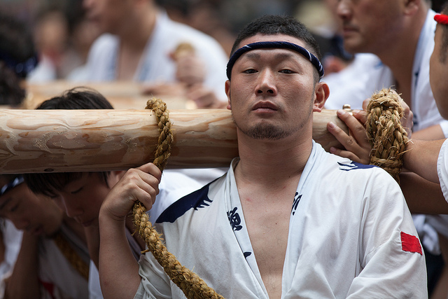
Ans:
[{"label": "short black hair above the central man's headband", "polygon": [[321,50],[311,32],[301,22],[288,15],[263,15],[250,22],[239,32],[230,55],[238,50],[241,41],[257,34],[285,34],[301,39],[307,46],[307,50],[314,54],[318,60],[322,59]]}]

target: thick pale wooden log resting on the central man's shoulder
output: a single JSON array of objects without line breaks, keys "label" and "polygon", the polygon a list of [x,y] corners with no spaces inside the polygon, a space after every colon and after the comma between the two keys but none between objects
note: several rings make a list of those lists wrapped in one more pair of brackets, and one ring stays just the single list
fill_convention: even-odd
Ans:
[{"label": "thick pale wooden log resting on the central man's shoulder", "polygon": [[[167,168],[227,167],[238,155],[230,111],[172,110]],[[314,139],[342,146],[326,130],[346,126],[336,111],[314,113]],[[154,158],[158,126],[150,110],[0,110],[0,173],[92,172],[138,167]]]}]

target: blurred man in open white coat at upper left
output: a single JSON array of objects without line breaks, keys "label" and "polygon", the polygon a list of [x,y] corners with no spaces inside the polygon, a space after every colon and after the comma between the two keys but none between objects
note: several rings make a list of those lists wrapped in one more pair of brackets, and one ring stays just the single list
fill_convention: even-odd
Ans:
[{"label": "blurred man in open white coat at upper left", "polygon": [[[102,32],[87,60],[90,81],[137,81],[150,95],[188,96],[198,108],[225,107],[227,55],[211,36],[170,20],[153,0],[83,5]],[[190,55],[177,55],[181,43],[190,45]]]}]

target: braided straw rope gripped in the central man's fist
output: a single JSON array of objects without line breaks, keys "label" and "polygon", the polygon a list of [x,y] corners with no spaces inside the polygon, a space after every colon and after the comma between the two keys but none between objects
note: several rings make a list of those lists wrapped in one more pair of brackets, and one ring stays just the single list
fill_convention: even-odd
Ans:
[{"label": "braided straw rope gripped in the central man's fist", "polygon": [[[162,100],[153,98],[148,101],[146,109],[152,109],[158,121],[160,137],[153,163],[162,171],[167,164],[173,141],[167,106]],[[213,288],[209,288],[205,281],[197,276],[195,272],[181,265],[176,257],[167,251],[167,247],[163,244],[160,234],[149,221],[146,209],[140,202],[134,204],[132,214],[134,216],[134,225],[136,225],[141,237],[148,245],[148,251],[153,253],[153,256],[158,260],[158,263],[163,267],[169,278],[181,288],[187,298],[223,298]]]}]

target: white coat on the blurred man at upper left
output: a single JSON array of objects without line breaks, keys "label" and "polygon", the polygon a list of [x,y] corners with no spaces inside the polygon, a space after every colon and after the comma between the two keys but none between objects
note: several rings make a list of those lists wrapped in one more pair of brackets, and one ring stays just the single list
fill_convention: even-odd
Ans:
[{"label": "white coat on the blurred man at upper left", "polygon": [[[204,85],[214,90],[218,99],[227,102],[224,92],[225,66],[228,55],[211,36],[187,25],[170,20],[167,13],[158,13],[155,27],[134,74],[134,81],[151,83],[176,82],[176,64],[170,57],[179,43],[190,43],[197,57],[204,62],[207,76]],[[94,41],[87,59],[87,81],[116,80],[120,39],[102,34]]]}]

